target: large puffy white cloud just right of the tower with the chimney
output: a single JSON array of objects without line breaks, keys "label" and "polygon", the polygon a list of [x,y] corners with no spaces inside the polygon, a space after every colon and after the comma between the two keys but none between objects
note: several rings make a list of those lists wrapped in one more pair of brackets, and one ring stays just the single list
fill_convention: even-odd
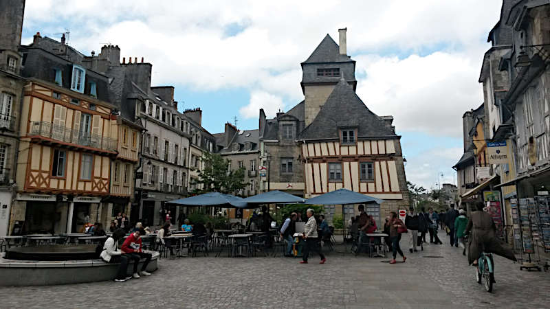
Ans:
[{"label": "large puffy white cloud just right of the tower with the chimney", "polygon": [[464,54],[358,57],[358,94],[378,115],[393,115],[397,131],[460,137],[461,115],[483,101],[478,64]]}]

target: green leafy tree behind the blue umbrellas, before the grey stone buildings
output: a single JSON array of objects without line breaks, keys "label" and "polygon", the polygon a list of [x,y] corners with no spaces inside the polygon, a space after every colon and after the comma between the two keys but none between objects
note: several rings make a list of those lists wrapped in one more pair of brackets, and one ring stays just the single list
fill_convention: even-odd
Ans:
[{"label": "green leafy tree behind the blue umbrellas, before the grey stone buildings", "polygon": [[224,194],[233,194],[244,189],[248,183],[245,183],[245,169],[228,171],[230,161],[223,159],[221,155],[209,152],[203,152],[201,161],[204,168],[199,172],[199,180],[195,181],[202,185],[202,190],[196,190],[195,193],[220,192]]}]

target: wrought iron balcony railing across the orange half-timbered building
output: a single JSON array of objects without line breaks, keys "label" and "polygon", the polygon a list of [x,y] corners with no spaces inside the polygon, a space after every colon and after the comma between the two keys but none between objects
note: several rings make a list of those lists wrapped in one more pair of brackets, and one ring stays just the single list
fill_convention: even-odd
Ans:
[{"label": "wrought iron balcony railing across the orange half-timbered building", "polygon": [[29,135],[38,135],[79,146],[116,151],[116,140],[101,135],[82,133],[51,122],[31,122]]}]

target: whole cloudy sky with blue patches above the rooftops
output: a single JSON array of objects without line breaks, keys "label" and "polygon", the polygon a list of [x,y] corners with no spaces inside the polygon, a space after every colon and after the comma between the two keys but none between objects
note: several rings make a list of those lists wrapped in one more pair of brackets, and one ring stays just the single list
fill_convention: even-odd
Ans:
[{"label": "whole cloudy sky with blue patches above the rooftops", "polygon": [[[258,126],[303,100],[300,62],[328,33],[357,61],[357,92],[377,115],[393,115],[408,181],[456,183],[464,111],[483,102],[477,82],[501,0],[72,1],[27,0],[23,44],[60,38],[83,54],[118,45],[153,63],[153,84],[176,88],[203,126]],[[441,176],[441,174],[443,174]]]}]

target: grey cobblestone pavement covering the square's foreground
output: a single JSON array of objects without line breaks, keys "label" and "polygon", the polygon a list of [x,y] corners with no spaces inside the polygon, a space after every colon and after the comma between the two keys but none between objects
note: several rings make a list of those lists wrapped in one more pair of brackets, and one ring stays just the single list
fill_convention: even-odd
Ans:
[{"label": "grey cobblestone pavement covering the square's foreground", "polygon": [[519,271],[496,258],[489,294],[447,242],[407,253],[407,262],[395,265],[340,253],[329,253],[324,265],[315,256],[307,265],[281,257],[163,259],[153,276],[123,283],[0,288],[0,308],[548,307],[550,273]]}]

